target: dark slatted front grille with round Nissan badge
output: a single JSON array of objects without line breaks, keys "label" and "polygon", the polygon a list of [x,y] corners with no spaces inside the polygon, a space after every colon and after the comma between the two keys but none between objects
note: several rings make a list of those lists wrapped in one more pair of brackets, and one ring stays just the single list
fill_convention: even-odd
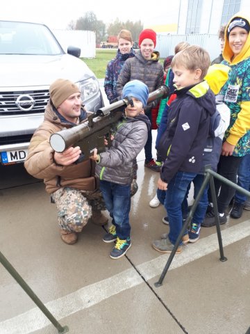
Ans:
[{"label": "dark slatted front grille with round Nissan badge", "polygon": [[[17,99],[20,95],[29,95],[33,99],[34,106],[25,103],[21,110],[17,106]],[[30,98],[28,97],[28,99]],[[25,100],[24,97],[23,100]],[[0,92],[0,116],[27,115],[34,113],[43,113],[49,100],[49,90],[23,90],[16,92]],[[28,100],[30,101],[30,100]],[[30,109],[30,110],[29,110]]]}]

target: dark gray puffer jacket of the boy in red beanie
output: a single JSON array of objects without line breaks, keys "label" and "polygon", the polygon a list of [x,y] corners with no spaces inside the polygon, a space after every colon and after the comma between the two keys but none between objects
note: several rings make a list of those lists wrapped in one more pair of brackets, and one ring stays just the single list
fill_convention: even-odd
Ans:
[{"label": "dark gray puffer jacket of the boy in red beanie", "polygon": [[[117,80],[117,95],[122,95],[122,88],[131,80],[140,80],[149,88],[149,93],[163,85],[164,71],[163,65],[159,63],[160,54],[153,51],[151,59],[145,59],[139,50],[133,58],[128,58],[119,74]],[[158,104],[158,100],[151,102],[148,106],[153,107]],[[147,112],[147,108],[144,109]]]}]

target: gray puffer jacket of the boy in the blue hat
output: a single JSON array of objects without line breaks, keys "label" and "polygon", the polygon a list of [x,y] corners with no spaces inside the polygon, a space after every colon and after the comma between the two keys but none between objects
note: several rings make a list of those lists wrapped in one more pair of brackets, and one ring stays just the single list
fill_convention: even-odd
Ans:
[{"label": "gray puffer jacket of the boy in the blue hat", "polygon": [[96,175],[100,180],[130,184],[136,174],[136,157],[144,148],[150,130],[149,118],[138,115],[124,117],[117,125],[112,146],[100,154]]}]

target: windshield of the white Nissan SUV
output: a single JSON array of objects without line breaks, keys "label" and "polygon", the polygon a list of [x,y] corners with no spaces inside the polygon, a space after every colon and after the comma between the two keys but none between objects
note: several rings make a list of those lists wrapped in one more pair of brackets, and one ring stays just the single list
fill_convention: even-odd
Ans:
[{"label": "windshield of the white Nissan SUV", "polygon": [[0,21],[0,54],[63,54],[56,38],[43,24]]}]

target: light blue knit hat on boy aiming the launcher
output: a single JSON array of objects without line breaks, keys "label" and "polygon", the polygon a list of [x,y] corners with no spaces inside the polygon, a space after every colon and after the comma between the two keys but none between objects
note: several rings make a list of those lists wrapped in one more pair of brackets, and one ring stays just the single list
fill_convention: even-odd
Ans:
[{"label": "light blue knit hat on boy aiming the launcher", "polygon": [[142,81],[132,80],[128,81],[122,90],[122,99],[124,97],[135,97],[140,100],[143,106],[146,106],[149,97],[149,88]]}]

